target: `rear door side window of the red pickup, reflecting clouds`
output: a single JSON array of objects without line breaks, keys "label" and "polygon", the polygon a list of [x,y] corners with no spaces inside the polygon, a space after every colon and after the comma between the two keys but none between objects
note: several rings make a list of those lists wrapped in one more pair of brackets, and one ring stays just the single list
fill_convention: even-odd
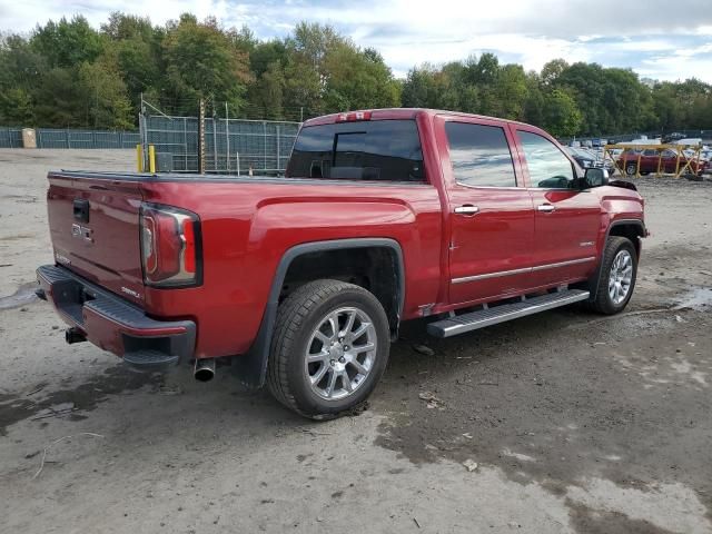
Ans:
[{"label": "rear door side window of the red pickup, reflecting clouds", "polygon": [[457,184],[515,187],[514,162],[504,130],[498,126],[445,123],[449,160]]}]

